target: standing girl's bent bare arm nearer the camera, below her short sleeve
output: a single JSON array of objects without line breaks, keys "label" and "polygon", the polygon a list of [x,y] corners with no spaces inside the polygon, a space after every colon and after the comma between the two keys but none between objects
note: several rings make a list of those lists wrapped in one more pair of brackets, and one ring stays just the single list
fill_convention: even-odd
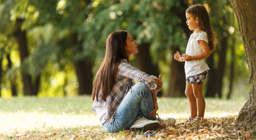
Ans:
[{"label": "standing girl's bent bare arm nearer the camera, below her short sleeve", "polygon": [[211,52],[210,52],[208,43],[203,40],[198,40],[198,43],[202,49],[202,52],[195,56],[189,56],[187,54],[182,54],[182,57],[185,59],[185,61],[204,59],[204,58],[208,58],[210,56]]}]

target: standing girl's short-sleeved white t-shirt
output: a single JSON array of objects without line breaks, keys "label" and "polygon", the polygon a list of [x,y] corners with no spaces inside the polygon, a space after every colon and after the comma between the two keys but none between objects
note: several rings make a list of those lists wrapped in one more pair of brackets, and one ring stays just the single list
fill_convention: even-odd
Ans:
[{"label": "standing girl's short-sleeved white t-shirt", "polygon": [[[195,56],[200,54],[203,50],[201,49],[198,40],[203,40],[208,43],[207,33],[200,31],[199,33],[193,33],[189,37],[186,54],[189,56]],[[205,70],[210,70],[204,59],[185,61],[185,74],[186,77],[198,75]]]}]

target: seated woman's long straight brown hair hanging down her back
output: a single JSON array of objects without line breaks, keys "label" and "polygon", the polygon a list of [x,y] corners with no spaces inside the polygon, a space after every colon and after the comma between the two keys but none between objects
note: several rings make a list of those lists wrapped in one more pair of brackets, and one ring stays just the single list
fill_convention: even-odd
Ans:
[{"label": "seated woman's long straight brown hair hanging down her back", "polygon": [[106,101],[114,86],[120,61],[126,59],[129,62],[125,51],[127,34],[126,30],[116,30],[108,36],[106,53],[94,79],[92,100],[96,97],[98,101],[99,91],[102,90],[101,99]]}]

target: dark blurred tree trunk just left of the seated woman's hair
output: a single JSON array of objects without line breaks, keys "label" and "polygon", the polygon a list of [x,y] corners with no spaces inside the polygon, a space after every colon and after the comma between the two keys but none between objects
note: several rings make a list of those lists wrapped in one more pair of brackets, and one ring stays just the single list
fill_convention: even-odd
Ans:
[{"label": "dark blurred tree trunk just left of the seated woman's hair", "polygon": [[[82,41],[78,42],[77,33],[72,34],[72,44],[78,47],[73,52],[74,54],[76,52],[82,52]],[[92,63],[86,58],[83,60],[75,60],[73,63],[75,66],[77,81],[79,83],[79,95],[92,94]]]}]

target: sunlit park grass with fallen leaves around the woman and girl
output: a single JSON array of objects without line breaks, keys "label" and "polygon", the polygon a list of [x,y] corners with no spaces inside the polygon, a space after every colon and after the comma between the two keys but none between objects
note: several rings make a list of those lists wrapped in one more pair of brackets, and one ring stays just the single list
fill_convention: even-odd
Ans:
[{"label": "sunlit park grass with fallen leaves around the woman and girl", "polygon": [[[225,122],[230,122],[229,124],[231,125],[231,121],[234,121],[235,119],[234,115],[238,114],[246,100],[220,100],[207,98],[205,99],[205,102],[205,117],[210,118],[209,123],[211,123],[208,124],[209,129],[207,130],[214,130],[213,128],[210,129],[210,127],[214,126],[216,123],[218,124],[220,120],[224,120],[223,124],[221,124],[222,126],[225,125]],[[99,124],[96,113],[91,110],[92,103],[93,102],[90,96],[54,98],[20,97],[10,99],[0,98],[0,140],[10,138],[146,138],[141,135],[144,134],[144,132],[132,131],[130,135],[126,135],[123,132],[106,133]],[[176,123],[183,122],[189,116],[190,111],[188,107],[188,100],[186,98],[159,98],[158,106],[158,114],[161,118],[173,117],[176,119]],[[156,133],[156,135],[152,137],[153,139],[171,137],[183,139],[184,133],[195,133],[200,130],[200,127],[204,128],[206,126],[203,126],[203,124],[197,126],[193,126],[192,124],[191,126],[168,126],[167,128],[147,133]],[[187,131],[184,131],[182,128]],[[167,131],[171,131],[173,136],[170,136]],[[249,135],[248,133],[244,132],[235,132],[235,135],[237,135],[237,133],[241,133],[241,137],[244,136],[244,138],[245,135]]]}]

